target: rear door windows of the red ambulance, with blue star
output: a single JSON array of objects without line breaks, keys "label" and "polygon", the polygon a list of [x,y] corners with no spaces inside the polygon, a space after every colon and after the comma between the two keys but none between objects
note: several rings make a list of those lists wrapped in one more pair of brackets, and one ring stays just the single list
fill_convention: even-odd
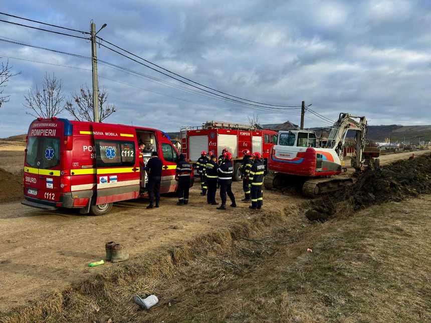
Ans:
[{"label": "rear door windows of the red ambulance, with blue star", "polygon": [[60,162],[60,139],[29,137],[26,162],[30,167],[50,169]]}]

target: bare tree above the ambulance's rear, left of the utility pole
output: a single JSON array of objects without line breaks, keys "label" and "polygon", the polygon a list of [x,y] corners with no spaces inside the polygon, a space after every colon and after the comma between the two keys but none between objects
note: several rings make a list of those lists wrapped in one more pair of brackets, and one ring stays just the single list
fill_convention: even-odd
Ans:
[{"label": "bare tree above the ambulance's rear, left of the utility pole", "polygon": [[36,89],[29,90],[24,98],[26,102],[23,105],[31,110],[26,113],[36,118],[49,119],[64,110],[63,84],[54,74],[45,73],[42,89],[36,85]]}]

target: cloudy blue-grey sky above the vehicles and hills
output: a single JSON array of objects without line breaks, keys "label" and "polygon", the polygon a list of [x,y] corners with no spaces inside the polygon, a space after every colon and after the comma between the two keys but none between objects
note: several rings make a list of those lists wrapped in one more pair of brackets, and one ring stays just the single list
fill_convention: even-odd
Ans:
[{"label": "cloudy blue-grey sky above the vehicles and hills", "polygon": [[[350,112],[365,115],[372,125],[431,124],[428,0],[39,0],[6,1],[1,11],[81,31],[89,31],[92,19],[98,28],[106,23],[98,35],[103,39],[195,82],[249,100],[275,105],[305,100],[332,120]],[[91,55],[87,40],[3,22],[0,39]],[[298,110],[253,110],[208,98],[106,48],[97,50],[100,60],[145,75],[99,64],[100,87],[107,88],[109,102],[118,111],[106,122],[177,131],[205,120],[247,123],[255,114],[261,123],[299,123]],[[13,70],[22,72],[5,88],[11,99],[0,108],[0,137],[27,131],[33,117],[26,115],[24,95],[46,72],[63,81],[67,97],[80,85],[91,87],[87,59],[5,42],[0,42],[0,57],[3,62],[9,58]],[[327,125],[306,115],[306,127]]]}]

